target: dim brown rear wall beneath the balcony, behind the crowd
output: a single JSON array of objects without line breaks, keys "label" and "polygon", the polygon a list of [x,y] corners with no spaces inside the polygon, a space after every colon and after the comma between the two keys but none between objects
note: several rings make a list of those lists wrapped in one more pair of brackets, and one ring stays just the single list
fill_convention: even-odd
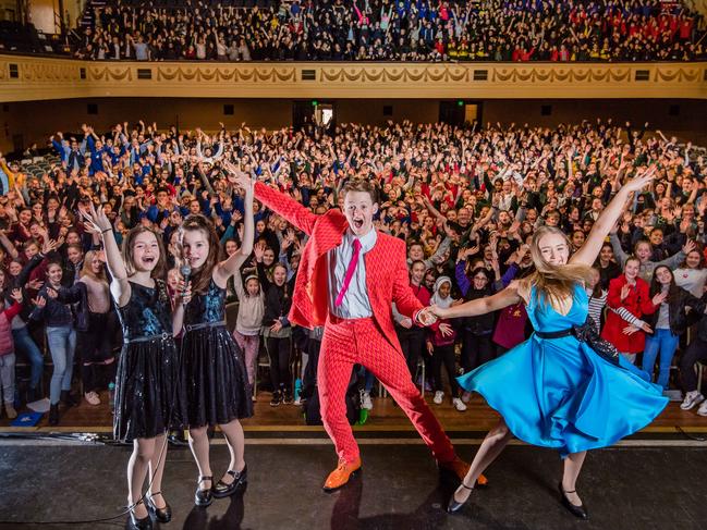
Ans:
[{"label": "dim brown rear wall beneath the balcony, behind the crowd", "polygon": [[[320,99],[320,103],[330,100]],[[651,127],[674,132],[695,144],[707,145],[707,101],[697,100],[490,100],[468,101],[479,104],[482,120],[510,124],[554,126],[581,120],[612,118],[614,122],[649,121]],[[358,122],[383,125],[388,120],[430,123],[439,119],[438,100],[337,100],[338,123]],[[246,122],[251,127],[268,130],[292,124],[291,100],[279,99],[157,99],[106,98],[3,103],[0,106],[0,150],[12,151],[32,143],[44,145],[57,131],[80,131],[90,123],[102,132],[118,122],[143,119],[156,121],[160,128],[179,125],[181,130],[200,126],[215,131],[223,122],[232,128]],[[225,106],[232,106],[232,114]]]}]

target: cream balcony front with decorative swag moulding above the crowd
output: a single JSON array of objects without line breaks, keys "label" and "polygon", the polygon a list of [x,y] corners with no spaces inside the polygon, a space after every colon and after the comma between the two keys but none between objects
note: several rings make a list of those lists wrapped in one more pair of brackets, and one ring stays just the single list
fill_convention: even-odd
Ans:
[{"label": "cream balcony front with decorative swag moulding above the crowd", "polygon": [[707,62],[93,62],[0,56],[0,100],[215,98],[707,99]]}]

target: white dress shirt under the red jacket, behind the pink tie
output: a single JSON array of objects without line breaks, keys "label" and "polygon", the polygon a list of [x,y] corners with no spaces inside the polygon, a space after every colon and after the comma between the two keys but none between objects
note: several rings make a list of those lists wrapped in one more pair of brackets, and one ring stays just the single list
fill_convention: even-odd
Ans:
[{"label": "white dress shirt under the red jacket, behind the pink tie", "polygon": [[358,237],[361,242],[361,251],[358,252],[358,263],[349,288],[343,297],[339,307],[336,307],[334,301],[339,292],[343,286],[343,281],[349,269],[349,263],[353,257],[353,242],[356,238],[351,230],[346,230],[341,245],[337,248],[329,250],[327,254],[329,274],[329,310],[332,315],[341,319],[363,319],[373,317],[373,309],[370,308],[370,300],[368,299],[368,289],[366,287],[366,261],[364,259],[378,241],[378,233],[371,229],[366,235]]}]

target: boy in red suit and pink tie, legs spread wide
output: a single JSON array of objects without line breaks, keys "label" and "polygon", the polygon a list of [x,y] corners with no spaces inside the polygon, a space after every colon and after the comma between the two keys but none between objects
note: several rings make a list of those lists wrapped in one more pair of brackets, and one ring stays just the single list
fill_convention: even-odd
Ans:
[{"label": "boy in red suit and pink tie, legs spread wide", "polygon": [[393,301],[417,325],[435,321],[410,288],[405,243],[374,229],[378,204],[370,183],[351,181],[342,195],[343,213],[329,210],[316,215],[261,182],[255,185],[256,199],[309,236],[289,318],[309,329],[325,326],[318,363],[319,400],[339,466],[327,478],[324,490],[341,488],[361,468],[344,402],[355,363],[369,369],[388,389],[431,448],[440,468],[461,479],[468,464],[456,456],[415,387],[393,328]]}]

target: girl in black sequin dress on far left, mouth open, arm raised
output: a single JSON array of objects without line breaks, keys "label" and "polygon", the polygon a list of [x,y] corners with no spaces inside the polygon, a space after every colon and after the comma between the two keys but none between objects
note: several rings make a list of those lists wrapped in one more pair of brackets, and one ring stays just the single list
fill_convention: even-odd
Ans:
[{"label": "girl in black sequin dress on far left, mouth open, arm raised", "polygon": [[[164,250],[160,237],[151,230],[137,226],[118,248],[112,226],[102,208],[83,212],[100,231],[106,261],[112,281],[110,291],[123,330],[123,348],[115,381],[113,432],[118,440],[133,442],[127,464],[131,525],[150,529],[151,519],[143,503],[143,485],[151,478],[147,503],[160,522],[168,522],[171,509],[161,494],[164,472],[166,433],[181,424],[184,405],[176,393],[179,357],[173,326],[181,329],[184,309],[181,299],[172,300],[161,279]],[[190,299],[185,289],[184,303]]]}]

